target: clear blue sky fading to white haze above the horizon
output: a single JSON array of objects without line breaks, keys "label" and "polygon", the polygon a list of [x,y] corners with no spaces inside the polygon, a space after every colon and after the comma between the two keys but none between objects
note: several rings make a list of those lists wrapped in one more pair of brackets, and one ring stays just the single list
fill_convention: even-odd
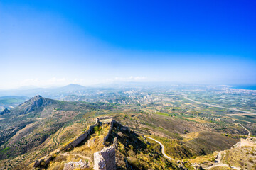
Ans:
[{"label": "clear blue sky fading to white haze above the horizon", "polygon": [[256,1],[0,1],[0,89],[256,84]]}]

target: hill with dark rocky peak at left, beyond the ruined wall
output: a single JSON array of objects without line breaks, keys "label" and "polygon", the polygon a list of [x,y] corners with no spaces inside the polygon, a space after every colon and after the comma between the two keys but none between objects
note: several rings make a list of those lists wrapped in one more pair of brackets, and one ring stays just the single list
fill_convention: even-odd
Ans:
[{"label": "hill with dark rocky peak at left, beyond the ruined wall", "polygon": [[[0,159],[12,160],[23,154],[43,155],[58,147],[52,140],[58,130],[72,125],[77,131],[68,131],[63,141],[78,135],[86,123],[82,116],[95,109],[111,109],[111,106],[95,103],[68,103],[35,96],[4,113],[0,118]],[[79,130],[78,130],[79,129]],[[39,150],[38,150],[39,148]],[[42,150],[41,150],[42,149]],[[21,157],[19,157],[21,159]]]}]

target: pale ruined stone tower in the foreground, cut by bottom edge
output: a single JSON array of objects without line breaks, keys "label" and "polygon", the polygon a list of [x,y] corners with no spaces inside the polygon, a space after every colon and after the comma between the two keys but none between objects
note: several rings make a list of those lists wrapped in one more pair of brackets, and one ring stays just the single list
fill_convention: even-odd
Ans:
[{"label": "pale ruined stone tower in the foreground, cut by bottom edge", "polygon": [[115,147],[110,146],[102,149],[94,154],[95,170],[115,170],[117,169],[115,163]]}]

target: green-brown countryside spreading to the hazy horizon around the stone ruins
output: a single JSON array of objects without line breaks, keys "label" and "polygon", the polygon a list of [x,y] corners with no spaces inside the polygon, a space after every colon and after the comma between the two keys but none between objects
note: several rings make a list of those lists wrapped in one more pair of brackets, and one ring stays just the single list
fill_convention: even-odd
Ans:
[{"label": "green-brown countryside spreading to the hazy horizon around the stone ruins", "polygon": [[[229,157],[234,157],[233,152],[242,153],[244,147],[248,147],[247,152],[256,154],[254,145],[231,149],[241,139],[256,135],[253,114],[256,94],[233,89],[227,93],[226,88],[95,89],[91,92],[94,95],[79,89],[82,96],[65,97],[65,101],[34,96],[1,112],[0,167],[26,169],[29,166],[33,169],[33,162],[50,154],[49,164],[36,168],[63,169],[68,162],[76,162],[73,164],[82,165],[82,169],[93,169],[94,153],[113,145],[117,137],[117,169],[254,169],[256,162],[249,161],[250,157],[246,165],[236,164]],[[206,98],[201,97],[202,93]],[[223,99],[218,103],[223,94],[227,94],[227,101]],[[207,98],[207,95],[216,97]],[[232,99],[230,95],[240,97]],[[242,95],[250,102],[244,102],[240,108],[228,105],[230,100],[233,105],[240,103]],[[87,132],[87,128],[95,124],[95,118],[104,117],[112,118],[129,131],[114,126],[109,140],[105,141],[109,128],[107,124],[100,125],[78,146],[62,151],[61,148]],[[218,157],[220,152],[226,153],[225,157],[224,154]],[[245,154],[245,157],[250,155]],[[80,159],[82,162],[78,163]]]}]

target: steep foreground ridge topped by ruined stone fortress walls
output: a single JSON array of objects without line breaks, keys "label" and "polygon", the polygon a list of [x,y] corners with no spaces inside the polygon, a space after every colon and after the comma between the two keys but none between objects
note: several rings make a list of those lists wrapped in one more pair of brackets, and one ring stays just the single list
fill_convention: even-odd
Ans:
[{"label": "steep foreground ridge topped by ruined stone fortress walls", "polygon": [[[144,159],[141,159],[141,158]],[[32,167],[33,166],[33,167]],[[110,117],[96,118],[85,132],[46,157],[31,169],[182,169],[137,135]]]}]

